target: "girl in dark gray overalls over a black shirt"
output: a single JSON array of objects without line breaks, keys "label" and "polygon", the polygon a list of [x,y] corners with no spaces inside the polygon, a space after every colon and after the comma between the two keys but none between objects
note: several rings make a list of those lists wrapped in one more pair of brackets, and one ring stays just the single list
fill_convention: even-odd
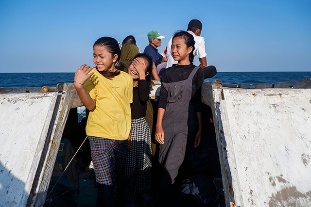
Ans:
[{"label": "girl in dark gray overalls over a black shirt", "polygon": [[167,68],[161,79],[155,131],[155,140],[160,143],[162,172],[158,190],[161,203],[169,199],[170,187],[184,160],[187,143],[196,147],[201,141],[204,74],[202,68],[192,64],[194,43],[188,32],[174,34],[171,54],[178,64]]}]

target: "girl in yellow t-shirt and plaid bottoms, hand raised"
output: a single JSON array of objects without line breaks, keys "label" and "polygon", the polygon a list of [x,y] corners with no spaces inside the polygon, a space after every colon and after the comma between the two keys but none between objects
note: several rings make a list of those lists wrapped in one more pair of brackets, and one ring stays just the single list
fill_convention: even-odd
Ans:
[{"label": "girl in yellow t-shirt and plaid bottoms, hand raised", "polygon": [[96,67],[81,65],[75,72],[74,86],[90,111],[86,134],[98,189],[96,206],[113,206],[128,149],[133,79],[115,68],[120,47],[114,38],[98,39],[93,51]]}]

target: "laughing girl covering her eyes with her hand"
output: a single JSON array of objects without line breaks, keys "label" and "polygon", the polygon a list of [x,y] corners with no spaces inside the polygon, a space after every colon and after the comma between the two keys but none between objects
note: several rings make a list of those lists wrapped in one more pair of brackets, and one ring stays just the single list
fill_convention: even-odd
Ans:
[{"label": "laughing girl covering her eyes with her hand", "polygon": [[128,70],[133,78],[134,88],[131,104],[131,144],[125,162],[124,200],[131,204],[137,193],[145,193],[143,197],[151,198],[148,196],[151,190],[151,135],[145,120],[150,92],[151,57],[143,53],[137,54]]}]

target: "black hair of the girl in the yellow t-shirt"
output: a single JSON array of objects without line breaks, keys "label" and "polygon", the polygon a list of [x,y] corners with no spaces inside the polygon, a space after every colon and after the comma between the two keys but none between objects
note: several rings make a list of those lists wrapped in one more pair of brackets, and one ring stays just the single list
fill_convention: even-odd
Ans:
[{"label": "black hair of the girl in the yellow t-shirt", "polygon": [[[112,37],[101,37],[98,40],[96,40],[96,42],[93,45],[94,46],[101,46],[104,47],[109,53],[111,53],[111,56],[113,57],[115,54],[118,55],[117,61],[115,64],[118,63],[118,61],[120,60],[120,46],[118,41],[115,38]],[[98,71],[100,74],[102,74],[105,78],[107,79],[111,79],[115,76],[118,76],[120,74],[119,70],[116,70],[115,72],[109,72],[109,71]]]}]

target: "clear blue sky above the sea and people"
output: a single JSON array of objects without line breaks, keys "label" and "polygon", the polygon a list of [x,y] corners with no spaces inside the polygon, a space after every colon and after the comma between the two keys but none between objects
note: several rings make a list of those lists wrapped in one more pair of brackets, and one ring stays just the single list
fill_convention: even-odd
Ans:
[{"label": "clear blue sky above the sea and people", "polygon": [[102,36],[143,51],[156,30],[162,52],[194,18],[220,72],[311,71],[311,0],[1,0],[0,72],[75,72]]}]

